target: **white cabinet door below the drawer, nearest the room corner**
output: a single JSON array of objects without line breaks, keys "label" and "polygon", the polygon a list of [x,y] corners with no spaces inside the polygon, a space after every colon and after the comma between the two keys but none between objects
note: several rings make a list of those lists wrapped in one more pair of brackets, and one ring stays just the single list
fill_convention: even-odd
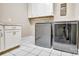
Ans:
[{"label": "white cabinet door below the drawer, nearest the room corner", "polygon": [[20,30],[5,31],[5,47],[6,47],[6,49],[19,45],[20,40],[21,40],[21,31]]}]

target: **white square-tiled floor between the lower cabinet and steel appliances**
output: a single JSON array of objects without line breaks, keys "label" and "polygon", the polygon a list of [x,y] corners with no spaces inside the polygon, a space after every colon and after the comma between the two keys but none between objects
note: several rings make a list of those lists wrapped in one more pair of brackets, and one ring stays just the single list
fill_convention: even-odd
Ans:
[{"label": "white square-tiled floor between the lower cabinet and steel appliances", "polygon": [[34,37],[23,38],[21,46],[1,56],[79,56],[35,45]]}]

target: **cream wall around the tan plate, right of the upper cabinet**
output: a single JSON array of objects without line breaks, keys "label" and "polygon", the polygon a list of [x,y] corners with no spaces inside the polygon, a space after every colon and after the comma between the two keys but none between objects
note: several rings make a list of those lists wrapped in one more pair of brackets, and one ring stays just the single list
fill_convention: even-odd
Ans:
[{"label": "cream wall around the tan plate, right of the upper cabinet", "polygon": [[55,21],[70,21],[75,19],[75,4],[67,3],[67,15],[60,16],[60,3],[55,3],[54,20]]}]

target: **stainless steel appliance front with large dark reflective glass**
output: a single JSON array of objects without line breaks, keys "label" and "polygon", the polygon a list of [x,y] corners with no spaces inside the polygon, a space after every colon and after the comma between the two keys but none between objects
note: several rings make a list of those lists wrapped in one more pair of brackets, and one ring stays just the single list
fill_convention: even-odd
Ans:
[{"label": "stainless steel appliance front with large dark reflective glass", "polygon": [[78,53],[78,22],[54,23],[53,48]]}]

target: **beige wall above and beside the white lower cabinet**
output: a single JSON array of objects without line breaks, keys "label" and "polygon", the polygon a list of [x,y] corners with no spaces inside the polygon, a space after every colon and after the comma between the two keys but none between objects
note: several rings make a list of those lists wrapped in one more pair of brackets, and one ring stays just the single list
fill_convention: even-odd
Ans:
[{"label": "beige wall above and beside the white lower cabinet", "polygon": [[27,18],[27,4],[0,4],[0,23],[22,25],[22,36],[31,35],[32,29]]}]

